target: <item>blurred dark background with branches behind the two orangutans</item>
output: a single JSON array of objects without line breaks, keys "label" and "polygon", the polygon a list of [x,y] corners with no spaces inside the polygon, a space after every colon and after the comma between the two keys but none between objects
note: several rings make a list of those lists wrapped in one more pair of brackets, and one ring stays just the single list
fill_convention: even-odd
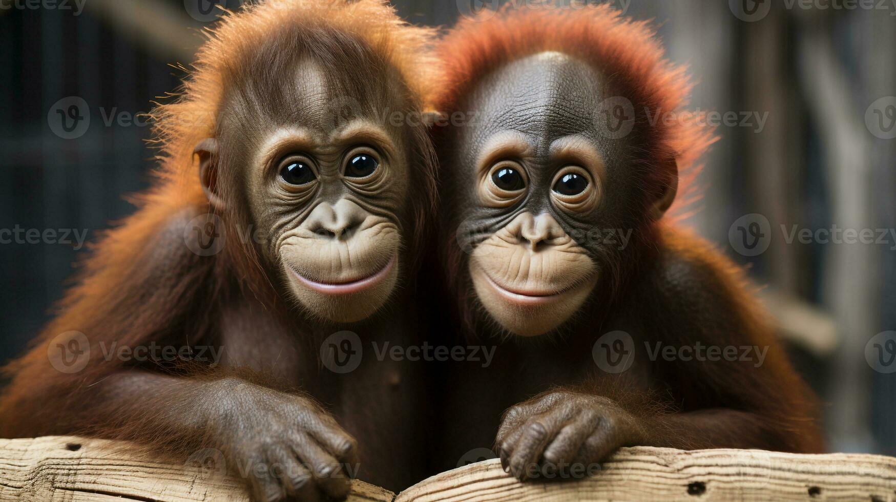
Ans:
[{"label": "blurred dark background with branches behind the two orangutans", "polygon": [[[394,0],[437,26],[504,3]],[[653,20],[690,65],[720,140],[685,222],[761,287],[830,449],[896,454],[896,0],[590,3]],[[215,4],[240,1],[0,0],[0,362],[133,211],[154,154],[141,114],[177,88]]]}]

